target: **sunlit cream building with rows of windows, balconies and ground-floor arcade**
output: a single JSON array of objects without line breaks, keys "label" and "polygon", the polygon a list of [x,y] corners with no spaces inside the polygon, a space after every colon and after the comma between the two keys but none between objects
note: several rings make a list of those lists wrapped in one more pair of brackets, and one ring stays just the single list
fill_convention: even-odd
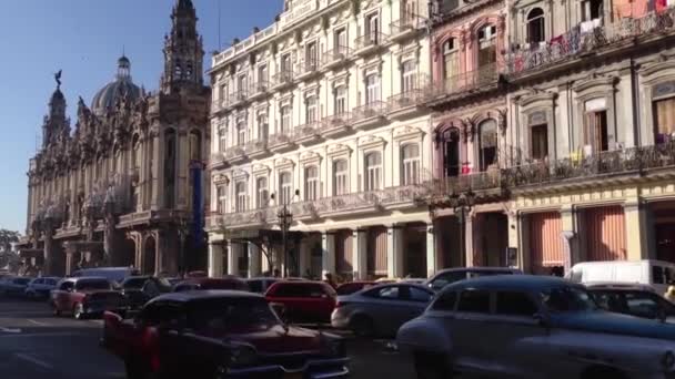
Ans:
[{"label": "sunlit cream building with rows of windows, balconies and ground-floor arcade", "polygon": [[426,13],[423,0],[288,0],[213,58],[211,275],[435,270],[417,202],[432,167]]}]

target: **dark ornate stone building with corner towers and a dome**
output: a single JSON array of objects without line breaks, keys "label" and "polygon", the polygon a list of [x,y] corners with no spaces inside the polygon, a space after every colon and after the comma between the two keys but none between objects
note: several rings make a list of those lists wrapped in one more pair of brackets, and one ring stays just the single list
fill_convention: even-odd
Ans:
[{"label": "dark ornate stone building with corner towers and a dome", "polygon": [[91,106],[80,98],[74,131],[57,74],[42,146],[30,160],[28,237],[20,247],[44,274],[205,266],[210,90],[192,2],[177,0],[171,20],[160,89],[139,89],[122,57]]}]

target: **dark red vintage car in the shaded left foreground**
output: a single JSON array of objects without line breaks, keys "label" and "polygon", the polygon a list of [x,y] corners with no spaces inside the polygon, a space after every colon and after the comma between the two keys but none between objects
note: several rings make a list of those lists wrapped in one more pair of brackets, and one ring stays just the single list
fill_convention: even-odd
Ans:
[{"label": "dark red vintage car in the shaded left foreground", "polygon": [[105,313],[103,347],[129,378],[345,378],[343,341],[284,325],[265,299],[232,290],[162,295],[133,320]]}]

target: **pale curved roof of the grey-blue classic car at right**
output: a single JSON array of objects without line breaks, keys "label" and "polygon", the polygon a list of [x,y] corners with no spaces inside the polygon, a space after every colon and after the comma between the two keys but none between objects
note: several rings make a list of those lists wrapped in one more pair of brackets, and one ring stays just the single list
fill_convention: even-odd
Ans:
[{"label": "pale curved roof of the grey-blue classic car at right", "polygon": [[582,287],[556,276],[543,275],[491,275],[477,278],[460,280],[447,285],[444,290],[457,289],[514,289],[514,290],[535,290],[554,288],[561,286]]}]

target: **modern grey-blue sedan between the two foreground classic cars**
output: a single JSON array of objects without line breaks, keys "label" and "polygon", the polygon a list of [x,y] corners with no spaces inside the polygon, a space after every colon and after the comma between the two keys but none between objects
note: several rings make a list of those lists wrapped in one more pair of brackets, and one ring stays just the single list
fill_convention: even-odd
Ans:
[{"label": "modern grey-blue sedan between the two foreground classic cars", "polygon": [[401,325],[422,315],[433,296],[429,287],[410,283],[380,285],[338,296],[331,325],[351,329],[356,336],[395,336]]}]

